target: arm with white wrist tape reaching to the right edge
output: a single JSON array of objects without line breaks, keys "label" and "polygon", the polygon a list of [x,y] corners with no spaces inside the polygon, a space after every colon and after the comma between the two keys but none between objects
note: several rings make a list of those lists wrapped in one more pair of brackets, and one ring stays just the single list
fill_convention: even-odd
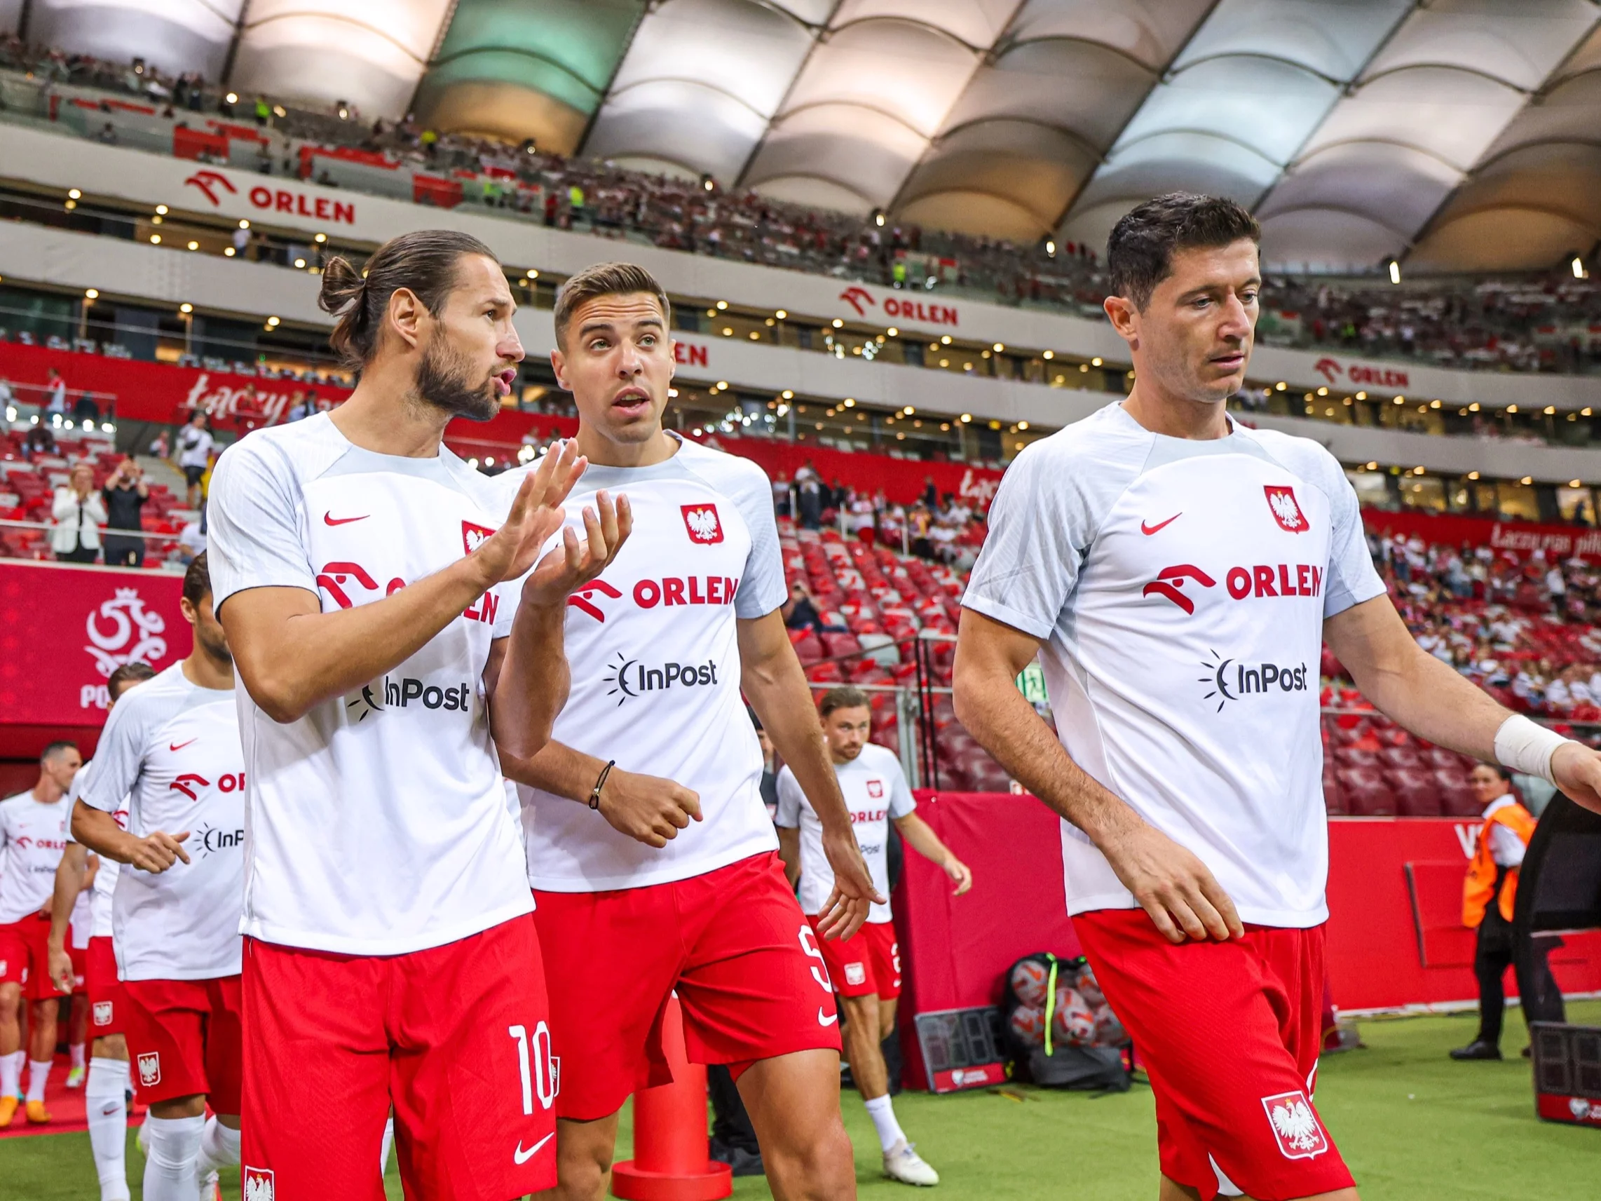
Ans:
[{"label": "arm with white wrist tape reaching to the right edge", "polygon": [[1499,705],[1423,650],[1388,596],[1322,623],[1322,637],[1356,687],[1396,725],[1436,746],[1550,780],[1601,812],[1601,754]]}]

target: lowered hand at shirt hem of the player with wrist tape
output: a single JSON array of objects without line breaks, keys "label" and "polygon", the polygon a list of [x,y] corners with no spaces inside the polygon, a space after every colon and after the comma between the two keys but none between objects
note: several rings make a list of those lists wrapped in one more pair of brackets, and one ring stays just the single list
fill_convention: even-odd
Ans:
[{"label": "lowered hand at shirt hem of the player with wrist tape", "polygon": [[1185,938],[1239,938],[1246,927],[1234,902],[1193,852],[1145,821],[1101,844],[1117,879],[1172,943]]}]

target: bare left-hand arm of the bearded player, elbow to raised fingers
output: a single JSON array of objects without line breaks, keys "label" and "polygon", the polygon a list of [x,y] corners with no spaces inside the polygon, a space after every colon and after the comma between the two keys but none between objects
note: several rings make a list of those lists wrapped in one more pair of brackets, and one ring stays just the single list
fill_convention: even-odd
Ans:
[{"label": "bare left-hand arm of the bearded player, elbow to raised fingers", "polygon": [[251,700],[272,721],[291,722],[405,663],[490,588],[533,567],[562,527],[560,504],[583,469],[573,442],[548,453],[472,554],[383,600],[323,613],[304,588],[229,596],[218,618]]}]

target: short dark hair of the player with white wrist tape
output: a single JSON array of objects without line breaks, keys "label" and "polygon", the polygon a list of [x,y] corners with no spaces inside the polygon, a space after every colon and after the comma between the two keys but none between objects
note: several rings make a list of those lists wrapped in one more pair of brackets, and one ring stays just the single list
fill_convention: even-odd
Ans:
[{"label": "short dark hair of the player with white wrist tape", "polygon": [[1262,243],[1257,218],[1233,200],[1193,192],[1169,192],[1130,208],[1106,239],[1111,295],[1140,312],[1156,285],[1174,271],[1174,251],[1226,247],[1250,239]]}]

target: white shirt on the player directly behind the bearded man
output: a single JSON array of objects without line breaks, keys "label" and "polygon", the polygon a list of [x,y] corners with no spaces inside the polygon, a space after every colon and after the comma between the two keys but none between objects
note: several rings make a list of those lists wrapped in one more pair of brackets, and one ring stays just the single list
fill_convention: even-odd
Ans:
[{"label": "white shirt on the player directly behind the bearded man", "polygon": [[239,975],[245,894],[245,756],[234,689],[202,689],[173,663],[112,708],[83,804],[126,810],[136,837],[189,833],[178,860],[117,873],[112,938],[123,980]]}]

